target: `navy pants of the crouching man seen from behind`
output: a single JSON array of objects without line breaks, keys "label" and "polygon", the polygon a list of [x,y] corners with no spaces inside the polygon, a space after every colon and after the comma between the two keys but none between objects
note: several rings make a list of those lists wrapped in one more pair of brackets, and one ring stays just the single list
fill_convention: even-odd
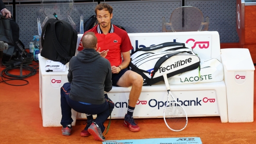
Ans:
[{"label": "navy pants of the crouching man seen from behind", "polygon": [[[99,126],[101,131],[103,132],[105,130],[104,122],[108,119],[110,116],[110,111],[112,112],[114,105],[112,102],[106,101],[103,104],[83,104],[79,101],[73,101],[69,98],[70,93],[70,83],[65,83],[61,87],[61,109],[62,109],[62,120],[61,125],[66,126],[70,125],[73,122],[73,119],[71,118],[71,109],[84,114],[89,114],[91,116],[87,117],[87,121],[93,119],[92,115],[97,115],[94,122]],[[106,98],[106,97],[105,97]]]}]

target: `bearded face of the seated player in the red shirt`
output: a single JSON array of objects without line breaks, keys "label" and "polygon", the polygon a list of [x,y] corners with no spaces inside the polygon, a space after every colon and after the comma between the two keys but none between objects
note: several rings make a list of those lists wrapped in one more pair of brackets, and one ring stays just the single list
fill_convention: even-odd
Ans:
[{"label": "bearded face of the seated player in the red shirt", "polygon": [[106,28],[109,26],[112,16],[113,16],[113,14],[110,14],[109,11],[97,10],[97,20],[98,20],[100,26],[103,28]]}]

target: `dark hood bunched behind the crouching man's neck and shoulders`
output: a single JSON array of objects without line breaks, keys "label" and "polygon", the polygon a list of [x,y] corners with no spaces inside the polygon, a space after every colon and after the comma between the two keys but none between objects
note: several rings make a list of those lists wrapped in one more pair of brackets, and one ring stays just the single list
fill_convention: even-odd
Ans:
[{"label": "dark hood bunched behind the crouching man's neck and shoulders", "polygon": [[77,58],[83,63],[89,63],[95,61],[97,58],[100,58],[100,55],[95,49],[84,48],[77,54]]}]

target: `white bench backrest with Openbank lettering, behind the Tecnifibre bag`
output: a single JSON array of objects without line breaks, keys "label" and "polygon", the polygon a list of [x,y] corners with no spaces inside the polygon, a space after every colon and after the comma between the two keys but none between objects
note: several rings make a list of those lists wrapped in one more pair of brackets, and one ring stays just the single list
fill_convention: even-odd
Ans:
[{"label": "white bench backrest with Openbank lettering, behind the Tecnifibre bag", "polygon": [[[128,33],[133,51],[167,42],[188,43],[201,59],[220,60],[220,40],[217,31]],[[214,51],[212,51],[214,47]]]}]

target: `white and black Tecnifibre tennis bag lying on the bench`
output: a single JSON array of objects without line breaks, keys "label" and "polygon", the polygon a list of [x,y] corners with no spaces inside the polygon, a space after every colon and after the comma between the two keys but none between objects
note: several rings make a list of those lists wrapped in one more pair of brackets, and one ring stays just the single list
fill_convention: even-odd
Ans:
[{"label": "white and black Tecnifibre tennis bag lying on the bench", "polygon": [[151,86],[167,77],[194,70],[200,65],[200,58],[187,43],[161,43],[140,48],[131,54],[129,68],[142,75],[143,86]]}]

